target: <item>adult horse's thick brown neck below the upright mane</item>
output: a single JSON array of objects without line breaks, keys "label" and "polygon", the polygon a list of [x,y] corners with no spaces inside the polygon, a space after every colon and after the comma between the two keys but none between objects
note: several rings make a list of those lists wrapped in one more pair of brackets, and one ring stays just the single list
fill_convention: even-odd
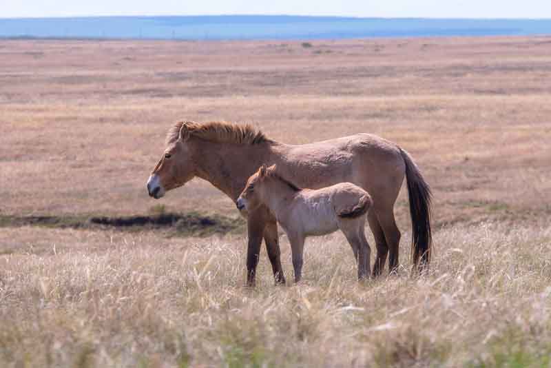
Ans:
[{"label": "adult horse's thick brown neck below the upright mane", "polygon": [[236,201],[249,176],[262,163],[271,162],[272,154],[269,143],[230,145],[200,141],[194,149],[196,176]]}]

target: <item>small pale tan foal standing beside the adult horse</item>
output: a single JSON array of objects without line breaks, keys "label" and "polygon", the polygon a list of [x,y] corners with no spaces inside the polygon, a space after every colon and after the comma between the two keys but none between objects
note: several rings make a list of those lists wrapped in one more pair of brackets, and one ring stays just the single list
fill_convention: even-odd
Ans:
[{"label": "small pale tan foal standing beside the adult horse", "polygon": [[275,165],[262,165],[247,181],[237,200],[238,209],[252,212],[266,205],[283,227],[291,243],[295,283],[302,274],[304,239],[340,229],[349,241],[358,265],[359,279],[370,274],[369,247],[364,227],[371,207],[368,192],[352,183],[339,183],[319,190],[300,189],[275,172]]}]

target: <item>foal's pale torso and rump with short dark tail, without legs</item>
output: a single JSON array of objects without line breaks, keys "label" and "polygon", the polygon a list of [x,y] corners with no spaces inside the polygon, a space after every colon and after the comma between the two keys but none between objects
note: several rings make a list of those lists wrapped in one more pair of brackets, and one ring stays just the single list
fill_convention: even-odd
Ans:
[{"label": "foal's pale torso and rump with short dark tail, without legs", "polygon": [[338,183],[318,190],[298,192],[290,220],[300,223],[304,235],[335,232],[346,219],[364,216],[371,207],[371,196],[352,183]]}]

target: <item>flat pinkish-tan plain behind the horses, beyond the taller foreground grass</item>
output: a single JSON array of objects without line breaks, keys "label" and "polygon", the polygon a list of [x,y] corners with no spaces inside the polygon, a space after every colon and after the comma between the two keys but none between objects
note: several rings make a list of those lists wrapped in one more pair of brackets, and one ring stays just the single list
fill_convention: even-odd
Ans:
[{"label": "flat pinkish-tan plain behind the horses, beyond the taller foreground grass", "polygon": [[[225,119],[289,143],[391,139],[433,185],[437,223],[549,213],[549,40],[2,41],[1,210],[144,213],[168,127]],[[235,214],[200,181],[165,203]]]}]

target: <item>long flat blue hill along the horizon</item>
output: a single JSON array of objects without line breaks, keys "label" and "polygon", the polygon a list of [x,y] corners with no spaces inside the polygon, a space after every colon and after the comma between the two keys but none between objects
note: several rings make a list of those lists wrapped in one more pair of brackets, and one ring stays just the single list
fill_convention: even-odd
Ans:
[{"label": "long flat blue hill along the horizon", "polygon": [[229,15],[0,19],[3,38],[350,39],[551,34],[551,19],[382,19]]}]

